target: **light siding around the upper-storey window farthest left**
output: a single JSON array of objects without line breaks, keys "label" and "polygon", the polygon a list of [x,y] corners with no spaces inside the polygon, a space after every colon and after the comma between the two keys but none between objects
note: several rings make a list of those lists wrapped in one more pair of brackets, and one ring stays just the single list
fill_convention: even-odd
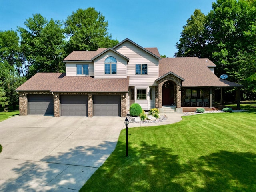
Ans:
[{"label": "light siding around the upper-storey window farthest left", "polygon": [[81,76],[76,74],[76,64],[88,64],[89,76],[94,76],[94,63],[93,62],[67,62],[66,75],[67,76]]}]

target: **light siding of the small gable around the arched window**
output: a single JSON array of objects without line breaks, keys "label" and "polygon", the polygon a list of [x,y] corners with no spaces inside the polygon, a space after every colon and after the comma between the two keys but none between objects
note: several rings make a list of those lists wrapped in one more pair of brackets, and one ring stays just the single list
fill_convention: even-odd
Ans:
[{"label": "light siding of the small gable around the arched window", "polygon": [[[116,58],[117,74],[105,74],[104,62],[105,62],[106,58],[108,58],[110,56]],[[126,64],[127,64],[127,61],[125,58],[123,58],[122,56],[120,56],[110,50],[110,51],[102,54],[99,58],[97,58],[94,61],[95,78],[127,78]]]}]

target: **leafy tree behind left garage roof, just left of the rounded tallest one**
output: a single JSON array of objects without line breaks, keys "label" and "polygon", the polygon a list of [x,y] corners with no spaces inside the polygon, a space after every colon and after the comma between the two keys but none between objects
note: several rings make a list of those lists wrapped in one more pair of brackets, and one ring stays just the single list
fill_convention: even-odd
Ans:
[{"label": "leafy tree behind left garage roof, just left of the rounded tallest one", "polygon": [[18,27],[21,36],[23,62],[27,65],[28,77],[37,72],[64,72],[64,34],[60,21],[48,22],[40,14],[33,14]]}]

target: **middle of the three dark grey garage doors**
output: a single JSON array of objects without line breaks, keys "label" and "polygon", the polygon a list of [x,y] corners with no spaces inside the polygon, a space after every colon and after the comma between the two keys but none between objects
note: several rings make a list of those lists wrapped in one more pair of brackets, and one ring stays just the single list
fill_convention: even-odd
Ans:
[{"label": "middle of the three dark grey garage doors", "polygon": [[61,116],[87,116],[87,100],[85,95],[61,95]]}]

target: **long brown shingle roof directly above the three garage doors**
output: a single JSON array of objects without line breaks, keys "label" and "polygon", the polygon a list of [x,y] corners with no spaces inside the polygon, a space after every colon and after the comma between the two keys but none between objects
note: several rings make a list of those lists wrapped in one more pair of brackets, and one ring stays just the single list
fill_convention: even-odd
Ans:
[{"label": "long brown shingle roof directly above the three garage doors", "polygon": [[37,73],[16,91],[51,92],[128,92],[127,79],[94,79],[90,76],[66,76],[64,73]]}]

